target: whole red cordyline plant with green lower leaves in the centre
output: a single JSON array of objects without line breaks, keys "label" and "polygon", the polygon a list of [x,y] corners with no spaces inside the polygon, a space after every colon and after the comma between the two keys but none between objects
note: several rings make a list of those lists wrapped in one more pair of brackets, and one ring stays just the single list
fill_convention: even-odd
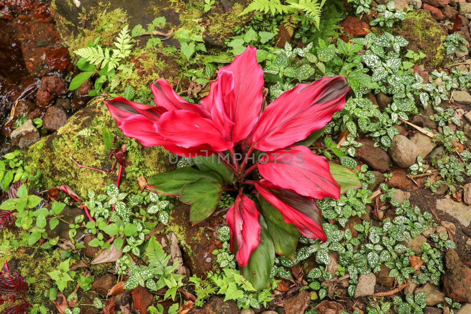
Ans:
[{"label": "whole red cordyline plant with green lower leaves in the centre", "polygon": [[[344,107],[349,91],[344,77],[324,77],[284,92],[262,112],[263,70],[255,52],[249,46],[221,67],[200,105],[185,101],[162,79],[151,85],[156,106],[123,97],[105,101],[126,136],[145,146],[162,145],[179,156],[198,155],[196,166],[201,171],[185,167],[154,175],[148,182],[154,191],[191,204],[193,223],[211,215],[223,191],[237,193],[227,212],[230,244],[243,274],[250,276],[268,273],[266,269],[273,266],[270,251],[276,251],[276,241],[271,248],[260,248],[257,256],[266,252],[273,256],[264,269],[255,265],[260,264],[255,258],[255,266],[246,268],[259,244],[275,237],[271,228],[264,231],[267,225],[326,241],[315,199],[340,198],[340,186],[325,157],[295,143],[322,129]],[[256,169],[260,175],[252,172]],[[260,210],[259,201],[247,194],[253,186],[265,204]]]}]

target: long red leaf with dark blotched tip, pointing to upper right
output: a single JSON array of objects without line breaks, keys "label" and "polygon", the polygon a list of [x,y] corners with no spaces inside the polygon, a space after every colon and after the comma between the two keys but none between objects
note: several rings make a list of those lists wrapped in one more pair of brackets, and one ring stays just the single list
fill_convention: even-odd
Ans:
[{"label": "long red leaf with dark blotched tip, pointing to upper right", "polygon": [[268,152],[305,139],[343,108],[348,91],[343,76],[297,85],[268,105],[249,136],[249,144]]}]

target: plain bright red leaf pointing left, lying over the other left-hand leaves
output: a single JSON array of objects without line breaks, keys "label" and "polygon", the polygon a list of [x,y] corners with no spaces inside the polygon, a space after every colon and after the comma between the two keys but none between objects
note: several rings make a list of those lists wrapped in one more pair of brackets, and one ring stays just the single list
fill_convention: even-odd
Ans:
[{"label": "plain bright red leaf pointing left, lying over the other left-hand leaves", "polygon": [[234,146],[224,139],[213,121],[187,110],[162,114],[157,122],[157,132],[164,139],[185,148],[208,145],[208,148],[222,152]]}]

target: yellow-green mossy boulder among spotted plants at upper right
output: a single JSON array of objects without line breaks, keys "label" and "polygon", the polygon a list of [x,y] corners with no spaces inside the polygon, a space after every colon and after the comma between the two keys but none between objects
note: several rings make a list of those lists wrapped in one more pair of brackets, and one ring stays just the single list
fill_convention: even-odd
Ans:
[{"label": "yellow-green mossy boulder among spotted plants at upper right", "polygon": [[415,10],[407,13],[406,20],[395,33],[409,41],[407,49],[425,53],[423,63],[437,66],[443,62],[446,56],[443,42],[447,32],[430,16],[429,11]]}]

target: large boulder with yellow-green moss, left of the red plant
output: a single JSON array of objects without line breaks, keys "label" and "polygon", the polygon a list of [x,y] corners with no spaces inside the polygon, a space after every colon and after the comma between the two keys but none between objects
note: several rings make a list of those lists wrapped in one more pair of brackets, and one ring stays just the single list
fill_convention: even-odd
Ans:
[{"label": "large boulder with yellow-green moss, left of the red plant", "polygon": [[26,163],[31,173],[41,170],[41,189],[66,184],[81,196],[87,190],[97,191],[107,183],[116,182],[115,170],[105,174],[91,169],[79,168],[71,157],[81,165],[109,171],[113,161],[108,158],[102,132],[108,129],[118,138],[119,145],[127,144],[127,167],[122,175],[122,187],[136,190],[137,178],[146,178],[157,172],[173,169],[169,152],[162,146],[144,147],[137,140],[125,137],[116,121],[103,104],[104,96],[75,113],[67,124],[56,133],[42,138],[26,153]]}]

